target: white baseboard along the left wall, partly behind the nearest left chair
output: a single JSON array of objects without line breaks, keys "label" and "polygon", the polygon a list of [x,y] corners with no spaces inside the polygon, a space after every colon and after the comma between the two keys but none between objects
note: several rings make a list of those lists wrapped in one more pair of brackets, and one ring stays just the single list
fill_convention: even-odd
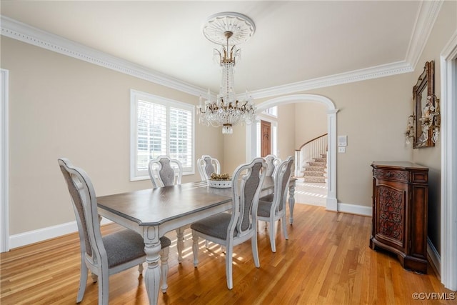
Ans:
[{"label": "white baseboard along the left wall, partly behind the nearest left chair", "polygon": [[[108,219],[101,220],[101,224],[109,223],[111,223],[111,221]],[[66,224],[58,224],[56,226],[48,226],[43,229],[11,235],[9,236],[9,249],[35,244],[39,241],[45,241],[46,239],[54,239],[56,237],[75,233],[77,231],[78,226],[76,225],[76,221],[71,221]]]}]

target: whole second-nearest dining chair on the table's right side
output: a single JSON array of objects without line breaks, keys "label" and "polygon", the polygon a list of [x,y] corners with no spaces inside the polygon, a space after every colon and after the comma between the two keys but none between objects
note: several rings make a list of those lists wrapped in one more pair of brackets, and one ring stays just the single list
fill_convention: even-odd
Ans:
[{"label": "whole second-nearest dining chair on the table's right side", "polygon": [[[270,229],[270,246],[271,251],[276,252],[276,233],[275,222],[281,219],[283,235],[288,239],[286,228],[286,201],[288,183],[291,179],[291,171],[293,169],[293,156],[289,156],[281,164],[276,166],[274,172],[274,189],[273,196],[265,196],[259,199],[257,216],[260,221],[267,221]],[[269,200],[271,198],[271,201]]]}]

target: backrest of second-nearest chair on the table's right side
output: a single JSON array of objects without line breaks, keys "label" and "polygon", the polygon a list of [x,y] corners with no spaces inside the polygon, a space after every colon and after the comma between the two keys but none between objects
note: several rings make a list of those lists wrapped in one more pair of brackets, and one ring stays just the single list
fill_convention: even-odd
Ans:
[{"label": "backrest of second-nearest chair on the table's right side", "polygon": [[280,211],[286,211],[286,199],[288,183],[291,180],[291,174],[293,169],[293,156],[282,161],[276,166],[274,173],[274,192],[273,192],[273,206],[276,210],[276,214]]}]

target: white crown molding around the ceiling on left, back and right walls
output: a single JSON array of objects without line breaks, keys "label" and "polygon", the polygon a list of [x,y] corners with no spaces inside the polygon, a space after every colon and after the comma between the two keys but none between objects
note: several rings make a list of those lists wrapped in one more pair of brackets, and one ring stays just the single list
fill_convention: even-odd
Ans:
[{"label": "white crown molding around the ceiling on left, back and right walls", "polygon": [[[252,97],[254,99],[261,99],[412,72],[416,68],[416,64],[422,54],[423,48],[426,46],[428,36],[430,35],[433,24],[438,17],[442,4],[443,0],[421,2],[413,34],[411,36],[411,41],[408,45],[406,60],[404,61],[252,91]],[[29,26],[28,24],[21,23],[9,17],[1,16],[0,21],[1,35],[3,36],[87,61],[91,64],[104,66],[105,68],[135,76],[139,79],[145,79],[146,81],[151,81],[155,84],[176,89],[194,96],[207,94],[207,89],[175,79],[166,74],[161,74],[158,71],[147,69],[144,66],[134,64],[130,61],[110,56],[104,52],[77,44],[69,39],[64,39],[61,36],[50,34],[46,31],[34,28],[33,26]]]}]

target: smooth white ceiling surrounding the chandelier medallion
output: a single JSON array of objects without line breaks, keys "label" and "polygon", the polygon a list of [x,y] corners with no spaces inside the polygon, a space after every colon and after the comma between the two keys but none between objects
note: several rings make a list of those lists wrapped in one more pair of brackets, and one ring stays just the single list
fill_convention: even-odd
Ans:
[{"label": "smooth white ceiling surrounding the chandelier medallion", "polygon": [[[421,1],[5,1],[1,15],[186,83],[219,91],[212,14],[250,17],[236,91],[407,62]],[[415,64],[408,63],[407,64]]]}]

